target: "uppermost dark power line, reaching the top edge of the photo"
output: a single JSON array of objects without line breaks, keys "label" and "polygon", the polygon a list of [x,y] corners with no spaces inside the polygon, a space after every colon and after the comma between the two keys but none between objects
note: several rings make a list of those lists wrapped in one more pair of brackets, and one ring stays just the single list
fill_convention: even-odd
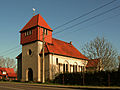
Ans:
[{"label": "uppermost dark power line, reaching the top edge of the photo", "polygon": [[82,17],[84,17],[84,16],[87,16],[87,15],[89,15],[90,13],[93,13],[94,11],[99,10],[99,9],[101,9],[101,8],[109,5],[109,4],[112,4],[112,3],[115,2],[115,1],[117,1],[117,0],[113,0],[113,1],[111,1],[111,2],[109,2],[109,3],[106,3],[106,4],[104,4],[104,5],[102,5],[102,6],[98,7],[98,8],[95,8],[95,9],[91,10],[90,12],[84,13],[83,15],[81,15],[81,16],[79,16],[79,17],[77,17],[77,18],[74,18],[74,19],[72,19],[72,20],[70,20],[70,21],[68,21],[68,22],[66,22],[66,23],[64,23],[64,24],[62,24],[62,25],[59,25],[59,26],[55,27],[53,30],[58,29],[58,28],[60,28],[60,27],[63,27],[63,26],[65,26],[65,25],[67,25],[67,24],[69,24],[69,23],[71,23],[71,22],[73,22],[73,21],[75,21],[75,20],[77,20],[77,19],[80,19],[80,18],[82,18]]}]

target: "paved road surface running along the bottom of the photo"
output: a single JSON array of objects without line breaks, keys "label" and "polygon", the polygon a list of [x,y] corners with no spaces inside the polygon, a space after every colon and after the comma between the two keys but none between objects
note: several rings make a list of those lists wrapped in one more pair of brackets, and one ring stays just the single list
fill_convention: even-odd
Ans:
[{"label": "paved road surface running along the bottom of the photo", "polygon": [[49,85],[35,83],[16,83],[16,82],[0,82],[0,90],[120,90],[120,87],[98,87],[98,86],[70,86],[70,85]]}]

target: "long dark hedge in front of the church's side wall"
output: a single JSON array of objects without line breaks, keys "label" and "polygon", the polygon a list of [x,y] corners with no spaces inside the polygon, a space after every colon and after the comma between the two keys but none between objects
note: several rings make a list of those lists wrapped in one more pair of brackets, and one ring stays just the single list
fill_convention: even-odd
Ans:
[{"label": "long dark hedge in front of the church's side wall", "polygon": [[65,85],[120,86],[120,72],[80,72],[59,74],[52,83]]}]

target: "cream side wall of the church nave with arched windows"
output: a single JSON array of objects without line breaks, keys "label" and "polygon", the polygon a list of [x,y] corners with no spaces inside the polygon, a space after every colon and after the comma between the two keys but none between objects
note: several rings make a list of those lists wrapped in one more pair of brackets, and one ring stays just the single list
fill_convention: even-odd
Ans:
[{"label": "cream side wall of the church nave with arched windows", "polygon": [[[61,55],[55,55],[50,54],[49,55],[50,60],[50,79],[54,79],[56,75],[59,73],[63,73],[63,65],[65,64],[65,72],[66,72],[66,64],[68,64],[68,72],[73,72],[74,65],[77,65],[77,72],[81,72],[80,67],[85,67],[87,65],[87,60],[67,57],[67,56],[61,56]],[[57,60],[58,59],[58,63]]]}]

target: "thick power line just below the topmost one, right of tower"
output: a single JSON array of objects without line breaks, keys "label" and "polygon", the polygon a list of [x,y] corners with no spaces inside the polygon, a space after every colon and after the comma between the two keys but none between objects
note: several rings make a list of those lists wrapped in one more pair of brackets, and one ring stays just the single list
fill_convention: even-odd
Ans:
[{"label": "thick power line just below the topmost one, right of tower", "polygon": [[92,19],[94,19],[94,18],[96,18],[96,17],[99,17],[99,16],[101,16],[101,15],[104,15],[104,14],[106,14],[106,13],[108,13],[108,12],[111,12],[111,11],[113,11],[113,10],[119,8],[119,7],[120,7],[120,5],[117,6],[117,7],[111,8],[111,9],[105,11],[105,12],[102,12],[102,13],[100,13],[100,14],[97,14],[97,15],[95,15],[95,16],[93,16],[93,17],[90,17],[90,18],[88,18],[88,19],[86,19],[86,20],[84,20],[84,21],[81,21],[80,23],[77,23],[77,24],[72,25],[72,26],[69,26],[69,27],[67,27],[67,28],[65,28],[65,29],[63,29],[63,30],[60,30],[60,31],[54,33],[53,35],[55,35],[55,34],[57,34],[57,33],[61,33],[61,32],[63,32],[63,31],[66,31],[67,29],[71,29],[71,28],[73,28],[73,27],[75,27],[75,26],[78,26],[79,24],[88,22],[88,21],[90,21],[90,20],[92,20]]}]

